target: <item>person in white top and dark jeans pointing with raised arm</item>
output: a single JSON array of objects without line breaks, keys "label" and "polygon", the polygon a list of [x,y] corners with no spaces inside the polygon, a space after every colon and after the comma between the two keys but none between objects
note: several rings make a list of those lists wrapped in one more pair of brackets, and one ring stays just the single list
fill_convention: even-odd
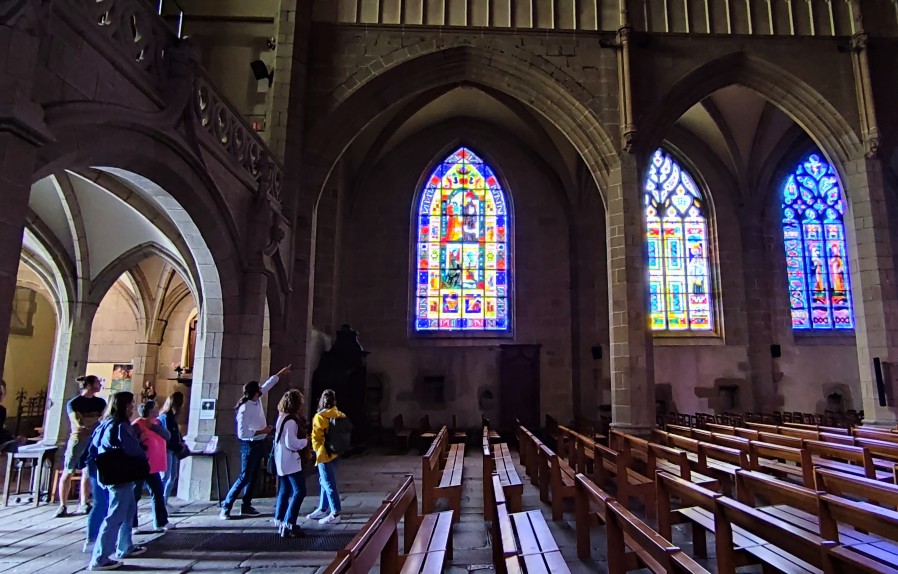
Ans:
[{"label": "person in white top and dark jeans pointing with raised arm", "polygon": [[221,502],[219,516],[224,520],[231,519],[234,502],[240,491],[244,489],[240,515],[259,516],[261,514],[253,508],[253,490],[256,486],[256,476],[259,474],[259,465],[265,456],[265,437],[271,432],[271,426],[265,420],[265,411],[262,409],[259,399],[270,391],[281,377],[290,372],[291,366],[287,365],[262,385],[259,385],[259,381],[250,381],[243,385],[243,397],[236,406],[237,438],[240,440],[240,475]]}]

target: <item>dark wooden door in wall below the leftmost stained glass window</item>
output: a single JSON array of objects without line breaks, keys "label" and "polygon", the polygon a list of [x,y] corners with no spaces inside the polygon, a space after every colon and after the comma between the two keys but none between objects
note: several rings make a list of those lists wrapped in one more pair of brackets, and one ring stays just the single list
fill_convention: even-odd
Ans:
[{"label": "dark wooden door in wall below the leftmost stained glass window", "polygon": [[499,426],[539,426],[539,345],[500,345]]}]

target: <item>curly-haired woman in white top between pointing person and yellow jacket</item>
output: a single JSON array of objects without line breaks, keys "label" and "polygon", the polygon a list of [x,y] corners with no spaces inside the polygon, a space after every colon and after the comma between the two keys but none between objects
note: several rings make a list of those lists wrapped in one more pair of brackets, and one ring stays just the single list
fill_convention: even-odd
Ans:
[{"label": "curly-haired woman in white top between pointing person and yellow jacket", "polygon": [[278,480],[278,498],[274,507],[274,520],[280,528],[281,538],[302,538],[305,533],[296,525],[299,507],[306,497],[306,478],[302,472],[302,455],[309,440],[305,421],[299,415],[303,407],[302,393],[290,389],[278,403],[278,420],[275,423],[274,466]]}]

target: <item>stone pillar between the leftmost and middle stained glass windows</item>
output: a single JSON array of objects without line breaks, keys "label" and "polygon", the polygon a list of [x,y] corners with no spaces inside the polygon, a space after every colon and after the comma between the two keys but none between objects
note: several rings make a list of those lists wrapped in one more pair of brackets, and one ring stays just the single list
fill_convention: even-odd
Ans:
[{"label": "stone pillar between the leftmost and middle stained glass windows", "polygon": [[646,317],[640,163],[621,156],[607,189],[608,291],[611,330],[611,418],[613,427],[648,434],[655,427],[652,333]]}]

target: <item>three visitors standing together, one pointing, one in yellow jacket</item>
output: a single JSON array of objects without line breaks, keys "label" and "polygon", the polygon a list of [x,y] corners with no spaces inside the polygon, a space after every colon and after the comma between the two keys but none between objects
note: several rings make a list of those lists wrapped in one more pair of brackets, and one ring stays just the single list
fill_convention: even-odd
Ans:
[{"label": "three visitors standing together, one pointing, one in yellow jacket", "polygon": [[[337,396],[327,389],[321,393],[318,409],[312,417],[312,428],[301,412],[305,397],[297,389],[289,389],[278,402],[278,418],[274,426],[265,418],[260,399],[270,391],[287,373],[286,366],[261,385],[250,381],[243,386],[243,397],[237,403],[237,438],[240,440],[240,475],[231,486],[221,503],[219,516],[224,520],[232,518],[237,498],[243,493],[240,515],[258,516],[253,508],[253,491],[259,466],[265,456],[265,438],[273,433],[274,444],[271,451],[269,470],[278,476],[278,494],[274,510],[274,522],[280,535],[285,538],[302,537],[305,534],[297,525],[299,508],[306,496],[306,482],[303,465],[309,464],[313,455],[318,470],[321,495],[318,507],[307,520],[317,520],[320,524],[340,523],[340,492],[337,488],[336,459],[325,440],[331,421],[345,418],[337,409]],[[309,444],[311,443],[311,448]]]}]

